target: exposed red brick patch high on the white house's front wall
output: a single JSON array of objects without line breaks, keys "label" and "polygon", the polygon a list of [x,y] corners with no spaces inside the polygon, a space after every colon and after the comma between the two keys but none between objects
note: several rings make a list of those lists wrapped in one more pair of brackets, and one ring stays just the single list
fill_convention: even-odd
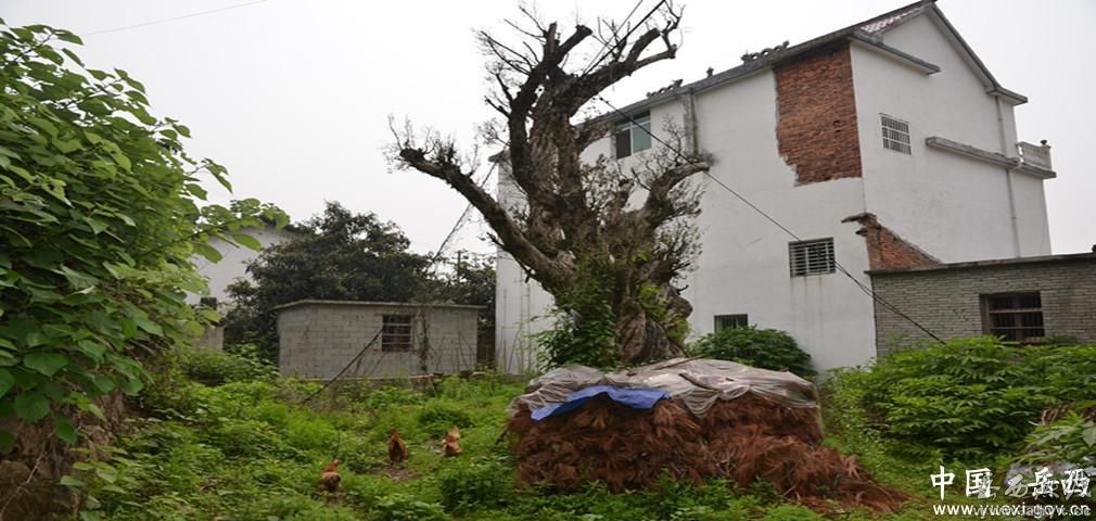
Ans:
[{"label": "exposed red brick patch high on the white house's front wall", "polygon": [[800,184],[860,177],[848,43],[777,67],[776,137]]}]

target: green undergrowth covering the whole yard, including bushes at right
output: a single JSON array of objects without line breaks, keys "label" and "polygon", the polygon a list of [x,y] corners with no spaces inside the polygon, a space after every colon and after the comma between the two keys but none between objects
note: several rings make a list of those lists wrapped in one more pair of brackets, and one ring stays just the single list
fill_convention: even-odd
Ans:
[{"label": "green undergrowth covering the whole yard, including bushes at right", "polygon": [[[849,520],[932,519],[926,503],[933,501],[936,489],[929,486],[928,476],[940,464],[952,469],[975,468],[975,464],[981,466],[996,456],[990,466],[1003,471],[1011,462],[1023,458],[1070,461],[1092,454],[1086,440],[1096,431],[1087,431],[1091,421],[1077,415],[1065,415],[1060,422],[1035,429],[1026,433],[1027,439],[1021,434],[1000,449],[956,451],[956,440],[929,435],[912,440],[910,429],[922,428],[923,422],[891,424],[882,412],[890,410],[882,409],[891,407],[887,404],[901,401],[897,389],[909,392],[902,384],[907,378],[944,374],[966,386],[996,381],[997,373],[1007,370],[990,371],[990,359],[998,364],[1035,364],[1031,371],[1047,375],[1041,395],[1058,393],[1065,399],[1078,396],[1072,385],[1058,390],[1046,386],[1080,378],[1091,371],[1091,346],[1035,348],[1038,352],[1029,352],[1027,358],[1012,359],[1017,350],[1028,349],[1032,348],[1001,344],[992,339],[957,340],[927,347],[923,355],[901,353],[870,370],[847,370],[831,377],[823,387],[825,442],[857,455],[888,486],[924,498],[895,514],[841,510],[834,516]],[[945,371],[929,364],[927,359],[934,355],[968,356],[970,367]],[[952,359],[951,365],[959,365],[955,362]],[[65,483],[82,498],[87,519],[823,519],[787,502],[764,482],[741,489],[727,482],[695,486],[667,476],[649,490],[624,494],[610,494],[600,483],[570,494],[520,486],[514,482],[514,462],[505,443],[496,443],[496,439],[506,405],[522,387],[498,376],[478,381],[450,377],[423,390],[347,383],[301,404],[316,384],[278,378],[263,371],[250,373],[256,362],[240,355],[185,352],[164,358],[163,363],[165,366],[142,393],[141,405],[148,416],[136,420],[133,432],[115,449],[82,463],[66,478]],[[1080,365],[1071,369],[1058,364]],[[1065,373],[1065,380],[1050,376],[1058,371]],[[206,384],[194,381],[194,376]],[[226,383],[207,385],[214,382]],[[1028,384],[1013,381],[1018,387]],[[889,386],[893,390],[887,392]],[[1005,387],[1008,384],[996,388],[1004,392]],[[955,396],[941,387],[931,387],[916,395],[920,400],[914,401],[934,403],[932,389],[940,396]],[[926,408],[923,420],[956,424],[957,432],[970,433],[970,448],[980,448],[983,439],[978,431],[967,431],[956,420],[998,420],[993,416],[966,418],[971,412],[957,407],[950,414],[959,418]],[[1031,412],[1027,423],[1038,419],[1039,412]],[[447,458],[441,446],[445,430],[453,424],[461,429],[464,454]],[[398,429],[410,448],[410,458],[402,467],[388,463],[390,428]],[[917,449],[909,450],[915,442]],[[333,457],[343,461],[342,491],[328,497],[317,490],[316,480]],[[979,500],[949,495],[948,501]]]}]

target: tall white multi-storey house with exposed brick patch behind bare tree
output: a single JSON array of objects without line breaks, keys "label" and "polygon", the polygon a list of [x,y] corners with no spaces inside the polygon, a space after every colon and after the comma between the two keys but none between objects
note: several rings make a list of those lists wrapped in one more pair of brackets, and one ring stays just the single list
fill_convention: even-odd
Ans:
[{"label": "tall white multi-storey house with exposed brick patch behind bare tree", "polygon": [[[876,354],[874,303],[850,278],[870,287],[869,269],[1049,254],[1042,183],[1054,172],[1049,147],[1017,141],[1026,101],[922,1],[621,107],[655,135],[666,121],[688,129],[713,155],[712,178],[802,239],[694,178],[693,335],[757,325],[788,331],[817,369],[860,364]],[[650,147],[621,125],[586,154]],[[513,203],[516,189],[502,180],[500,194]],[[551,298],[505,254],[498,273],[499,367],[525,371]]]}]

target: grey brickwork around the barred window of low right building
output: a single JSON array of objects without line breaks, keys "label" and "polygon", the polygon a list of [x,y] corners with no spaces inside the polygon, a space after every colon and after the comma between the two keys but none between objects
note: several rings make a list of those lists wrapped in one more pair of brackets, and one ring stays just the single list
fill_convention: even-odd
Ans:
[{"label": "grey brickwork around the barred window of low right building", "polygon": [[[871,286],[883,301],[945,340],[983,333],[982,295],[1019,292],[1039,292],[1047,336],[1096,340],[1096,254],[972,264],[871,273]],[[875,315],[879,354],[926,338],[878,303]]]}]

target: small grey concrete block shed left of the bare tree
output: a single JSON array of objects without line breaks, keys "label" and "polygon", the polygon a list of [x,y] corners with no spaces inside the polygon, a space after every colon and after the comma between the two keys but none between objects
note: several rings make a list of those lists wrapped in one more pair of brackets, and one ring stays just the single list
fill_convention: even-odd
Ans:
[{"label": "small grey concrete block shed left of the bare tree", "polygon": [[[275,308],[283,375],[401,377],[475,369],[483,308],[455,304],[297,301]],[[370,343],[372,342],[372,343]]]}]

